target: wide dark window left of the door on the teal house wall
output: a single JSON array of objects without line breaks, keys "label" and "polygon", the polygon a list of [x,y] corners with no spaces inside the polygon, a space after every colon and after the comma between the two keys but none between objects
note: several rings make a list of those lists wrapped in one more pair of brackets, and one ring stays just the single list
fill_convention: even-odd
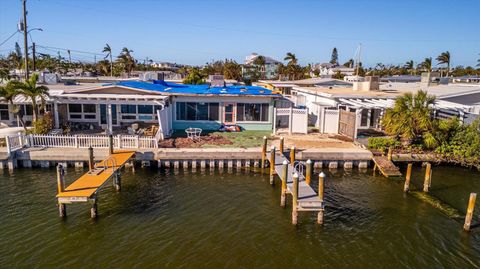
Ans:
[{"label": "wide dark window left of the door on the teal house wall", "polygon": [[176,119],[177,120],[219,120],[219,103],[193,103],[177,102]]}]

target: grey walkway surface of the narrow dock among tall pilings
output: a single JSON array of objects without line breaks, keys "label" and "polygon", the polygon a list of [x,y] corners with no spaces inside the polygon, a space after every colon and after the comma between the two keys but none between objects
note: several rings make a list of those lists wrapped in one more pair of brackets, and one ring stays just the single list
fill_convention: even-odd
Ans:
[{"label": "grey walkway surface of the narrow dock among tall pilings", "polygon": [[318,194],[307,184],[305,176],[297,171],[285,155],[275,154],[275,172],[282,175],[283,161],[288,162],[287,173],[287,191],[292,193],[293,190],[293,174],[298,174],[298,211],[319,211],[323,209],[324,201],[318,198]]}]

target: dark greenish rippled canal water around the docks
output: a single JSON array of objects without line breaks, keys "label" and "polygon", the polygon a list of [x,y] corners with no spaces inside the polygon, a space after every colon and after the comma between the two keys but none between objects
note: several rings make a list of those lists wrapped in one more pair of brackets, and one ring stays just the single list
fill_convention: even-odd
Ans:
[{"label": "dark greenish rippled canal water around the docks", "polygon": [[[84,171],[69,168],[71,182]],[[412,189],[422,186],[416,167]],[[99,195],[58,217],[55,169],[0,174],[0,268],[479,268],[480,228],[462,231],[403,181],[366,172],[327,172],[325,225],[291,203],[268,175],[126,170],[122,192]],[[316,186],[317,181],[313,184]],[[466,211],[480,174],[434,167],[431,193]],[[477,215],[480,204],[477,201]],[[478,222],[478,218],[476,218]]]}]

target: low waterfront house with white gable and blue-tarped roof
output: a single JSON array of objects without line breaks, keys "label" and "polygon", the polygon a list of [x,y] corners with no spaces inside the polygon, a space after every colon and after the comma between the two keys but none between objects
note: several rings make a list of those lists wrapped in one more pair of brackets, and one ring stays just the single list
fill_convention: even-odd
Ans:
[{"label": "low waterfront house with white gable and blue-tarped roof", "polygon": [[[258,86],[182,85],[163,80],[86,84],[49,86],[47,102],[56,128],[74,124],[113,133],[140,123],[159,124],[165,134],[189,127],[218,130],[224,124],[272,130],[274,100],[280,97]],[[28,117],[29,100],[17,103],[25,106]],[[10,105],[0,105],[0,115],[2,122],[16,126]]]}]

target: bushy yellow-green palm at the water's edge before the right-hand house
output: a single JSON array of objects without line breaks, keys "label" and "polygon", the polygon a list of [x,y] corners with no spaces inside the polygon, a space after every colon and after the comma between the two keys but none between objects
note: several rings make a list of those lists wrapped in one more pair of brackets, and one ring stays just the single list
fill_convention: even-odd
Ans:
[{"label": "bushy yellow-green palm at the water's edge before the right-hand house", "polygon": [[407,144],[423,141],[432,145],[432,106],[435,96],[426,91],[415,95],[405,93],[395,100],[393,108],[388,108],[383,118],[383,126],[389,135],[402,138]]}]

